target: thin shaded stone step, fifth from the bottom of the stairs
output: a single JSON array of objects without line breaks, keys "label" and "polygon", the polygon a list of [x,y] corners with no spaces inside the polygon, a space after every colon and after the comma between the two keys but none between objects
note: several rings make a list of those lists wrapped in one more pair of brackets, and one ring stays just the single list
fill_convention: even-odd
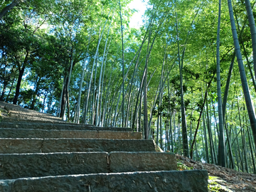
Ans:
[{"label": "thin shaded stone step, fifth from the bottom of the stairs", "polygon": [[132,132],[132,128],[122,127],[97,127],[90,124],[74,124],[67,122],[0,122],[0,128],[18,129],[68,129],[68,130],[95,130],[95,131],[121,131]]}]

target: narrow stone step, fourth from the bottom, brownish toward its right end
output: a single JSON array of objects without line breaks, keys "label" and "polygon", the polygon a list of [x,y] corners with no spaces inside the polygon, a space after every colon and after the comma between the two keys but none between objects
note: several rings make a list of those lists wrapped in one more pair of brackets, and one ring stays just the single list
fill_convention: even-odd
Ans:
[{"label": "narrow stone step, fourth from the bottom, brownish toward its right end", "polygon": [[0,138],[142,139],[142,132],[0,128]]}]

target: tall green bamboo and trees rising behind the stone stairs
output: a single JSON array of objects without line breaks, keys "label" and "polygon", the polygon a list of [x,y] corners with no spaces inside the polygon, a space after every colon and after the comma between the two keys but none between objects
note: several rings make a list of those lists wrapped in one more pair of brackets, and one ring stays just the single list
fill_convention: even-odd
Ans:
[{"label": "tall green bamboo and trees rising behind the stone stairs", "polygon": [[1,1],[0,100],[256,174],[256,1],[131,1]]}]

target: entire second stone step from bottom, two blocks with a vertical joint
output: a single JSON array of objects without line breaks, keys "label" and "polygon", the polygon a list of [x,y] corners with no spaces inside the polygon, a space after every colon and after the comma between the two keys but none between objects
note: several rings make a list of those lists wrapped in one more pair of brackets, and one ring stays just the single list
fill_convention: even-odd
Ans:
[{"label": "entire second stone step from bottom, two blocks with a vertical joint", "polygon": [[0,179],[177,169],[175,154],[156,152],[0,154],[0,162]]}]

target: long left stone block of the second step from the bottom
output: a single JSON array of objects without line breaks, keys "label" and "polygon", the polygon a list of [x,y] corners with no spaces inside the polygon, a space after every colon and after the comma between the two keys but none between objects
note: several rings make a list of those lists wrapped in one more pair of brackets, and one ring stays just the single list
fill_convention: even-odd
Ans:
[{"label": "long left stone block of the second step from the bottom", "polygon": [[108,173],[108,153],[1,154],[0,179]]}]

